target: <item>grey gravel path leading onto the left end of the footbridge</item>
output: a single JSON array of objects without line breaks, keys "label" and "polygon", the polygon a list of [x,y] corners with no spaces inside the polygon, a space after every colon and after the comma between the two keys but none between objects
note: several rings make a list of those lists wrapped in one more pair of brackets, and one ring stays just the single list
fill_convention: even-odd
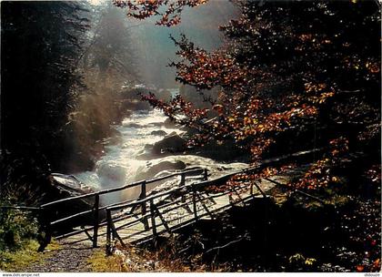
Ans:
[{"label": "grey gravel path leading onto the left end of the footbridge", "polygon": [[94,250],[85,246],[62,245],[44,262],[31,263],[25,272],[90,272],[87,261]]}]

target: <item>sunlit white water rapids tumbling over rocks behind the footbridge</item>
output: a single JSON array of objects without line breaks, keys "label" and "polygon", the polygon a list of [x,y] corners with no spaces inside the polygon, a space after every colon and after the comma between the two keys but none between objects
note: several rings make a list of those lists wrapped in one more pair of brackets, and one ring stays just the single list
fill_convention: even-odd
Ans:
[{"label": "sunlit white water rapids tumbling over rocks behind the footbridge", "polygon": [[[152,164],[157,164],[163,160],[174,162],[182,161],[186,167],[200,166],[215,171],[225,169],[238,169],[246,164],[231,163],[222,164],[213,159],[206,159],[195,155],[173,155],[161,159],[136,159],[145,152],[147,144],[153,145],[165,137],[153,134],[153,131],[165,131],[166,134],[176,132],[182,134],[179,128],[167,128],[164,125],[166,116],[158,110],[136,111],[128,118],[125,118],[116,129],[120,132],[120,141],[116,144],[106,146],[106,153],[95,164],[92,171],[84,171],[75,174],[81,182],[94,188],[94,190],[104,190],[126,185],[136,181],[137,173],[142,169],[149,169]],[[149,178],[154,176],[149,176]],[[156,184],[157,185],[157,184]],[[152,187],[147,188],[148,190]],[[103,197],[104,203],[112,203],[121,200],[135,198],[140,192],[140,188],[129,189],[123,193],[115,192],[107,197]]]}]

